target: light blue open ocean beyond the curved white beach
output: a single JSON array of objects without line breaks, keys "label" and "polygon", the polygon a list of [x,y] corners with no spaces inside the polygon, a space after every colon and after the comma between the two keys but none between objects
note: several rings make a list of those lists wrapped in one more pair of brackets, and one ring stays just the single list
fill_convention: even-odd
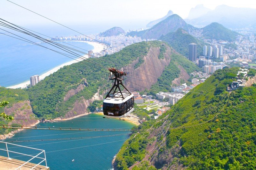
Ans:
[{"label": "light blue open ocean beyond the curved white beach", "polygon": [[[35,40],[34,42],[38,42]],[[62,45],[69,46],[61,43]],[[93,46],[84,42],[66,42],[85,50],[93,49]],[[61,51],[46,43],[41,45]],[[70,46],[74,48],[73,46]],[[78,49],[81,50],[81,49]],[[87,51],[84,51],[87,53]],[[78,53],[84,55],[82,53]],[[9,87],[29,81],[32,75],[41,75],[63,63],[71,61],[66,56],[53,52],[46,48],[36,46],[18,39],[0,35],[0,86]]]}]

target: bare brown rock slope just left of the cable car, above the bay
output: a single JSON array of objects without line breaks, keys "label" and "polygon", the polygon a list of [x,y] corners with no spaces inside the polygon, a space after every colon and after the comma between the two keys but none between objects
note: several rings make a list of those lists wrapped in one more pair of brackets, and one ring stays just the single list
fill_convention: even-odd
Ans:
[{"label": "bare brown rock slope just left of the cable car, above the bay", "polygon": [[65,115],[65,118],[89,114],[87,111],[87,107],[94,100],[103,100],[103,95],[100,95],[99,90],[97,93],[94,94],[91,99],[85,100],[84,97],[82,97],[81,100],[77,100],[75,102],[74,108]]}]

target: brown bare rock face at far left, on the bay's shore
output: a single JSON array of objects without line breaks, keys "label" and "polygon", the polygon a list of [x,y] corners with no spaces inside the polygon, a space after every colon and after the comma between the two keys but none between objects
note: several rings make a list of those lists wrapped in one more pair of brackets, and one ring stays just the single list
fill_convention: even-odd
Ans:
[{"label": "brown bare rock face at far left, on the bay's shore", "polygon": [[15,103],[10,108],[4,108],[4,112],[7,115],[10,115],[13,117],[19,117],[19,119],[24,119],[24,120],[12,120],[11,122],[9,122],[9,125],[22,124],[24,126],[32,126],[39,122],[38,120],[25,120],[25,119],[35,117],[34,113],[32,112],[32,107],[29,101],[22,101],[19,103]]}]

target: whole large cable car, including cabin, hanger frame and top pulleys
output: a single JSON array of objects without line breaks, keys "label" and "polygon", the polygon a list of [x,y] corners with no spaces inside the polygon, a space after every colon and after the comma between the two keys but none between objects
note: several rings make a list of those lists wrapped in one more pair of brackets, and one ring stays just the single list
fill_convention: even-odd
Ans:
[{"label": "whole large cable car, including cabin, hanger frame and top pulleys", "polygon": [[[122,83],[126,73],[115,68],[108,68],[108,70],[110,71],[109,80],[113,81],[113,86],[103,101],[103,114],[110,118],[125,117],[134,110],[134,96]],[[119,85],[123,86],[127,92],[122,92]]]}]

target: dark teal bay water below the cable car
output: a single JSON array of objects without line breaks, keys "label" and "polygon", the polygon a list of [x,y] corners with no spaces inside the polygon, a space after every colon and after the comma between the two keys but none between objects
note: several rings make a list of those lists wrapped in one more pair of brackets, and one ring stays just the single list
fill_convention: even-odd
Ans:
[{"label": "dark teal bay water below the cable car", "polygon": [[[80,121],[82,120],[82,121]],[[104,119],[100,115],[87,115],[54,123],[40,123],[37,126],[50,127],[78,127],[78,128],[123,128],[130,129],[133,124],[116,119]],[[56,138],[79,138],[92,136],[107,136],[114,134],[125,134],[130,131],[59,131],[59,130],[23,130],[16,133],[13,138],[5,141],[16,140],[36,140],[36,139],[56,139]],[[119,151],[128,134],[122,136],[58,140],[58,141],[38,141],[38,142],[18,142],[15,144],[43,149],[46,152],[47,165],[53,169],[111,169],[112,159]],[[28,153],[27,149],[11,148],[12,151],[22,151]],[[4,145],[0,145],[4,148]],[[38,152],[30,152],[38,153]],[[0,152],[6,156],[6,152]],[[11,153],[11,157],[17,156]],[[42,155],[41,155],[42,156]],[[15,157],[15,159],[28,160],[26,156]],[[75,159],[72,162],[72,159]]]}]

